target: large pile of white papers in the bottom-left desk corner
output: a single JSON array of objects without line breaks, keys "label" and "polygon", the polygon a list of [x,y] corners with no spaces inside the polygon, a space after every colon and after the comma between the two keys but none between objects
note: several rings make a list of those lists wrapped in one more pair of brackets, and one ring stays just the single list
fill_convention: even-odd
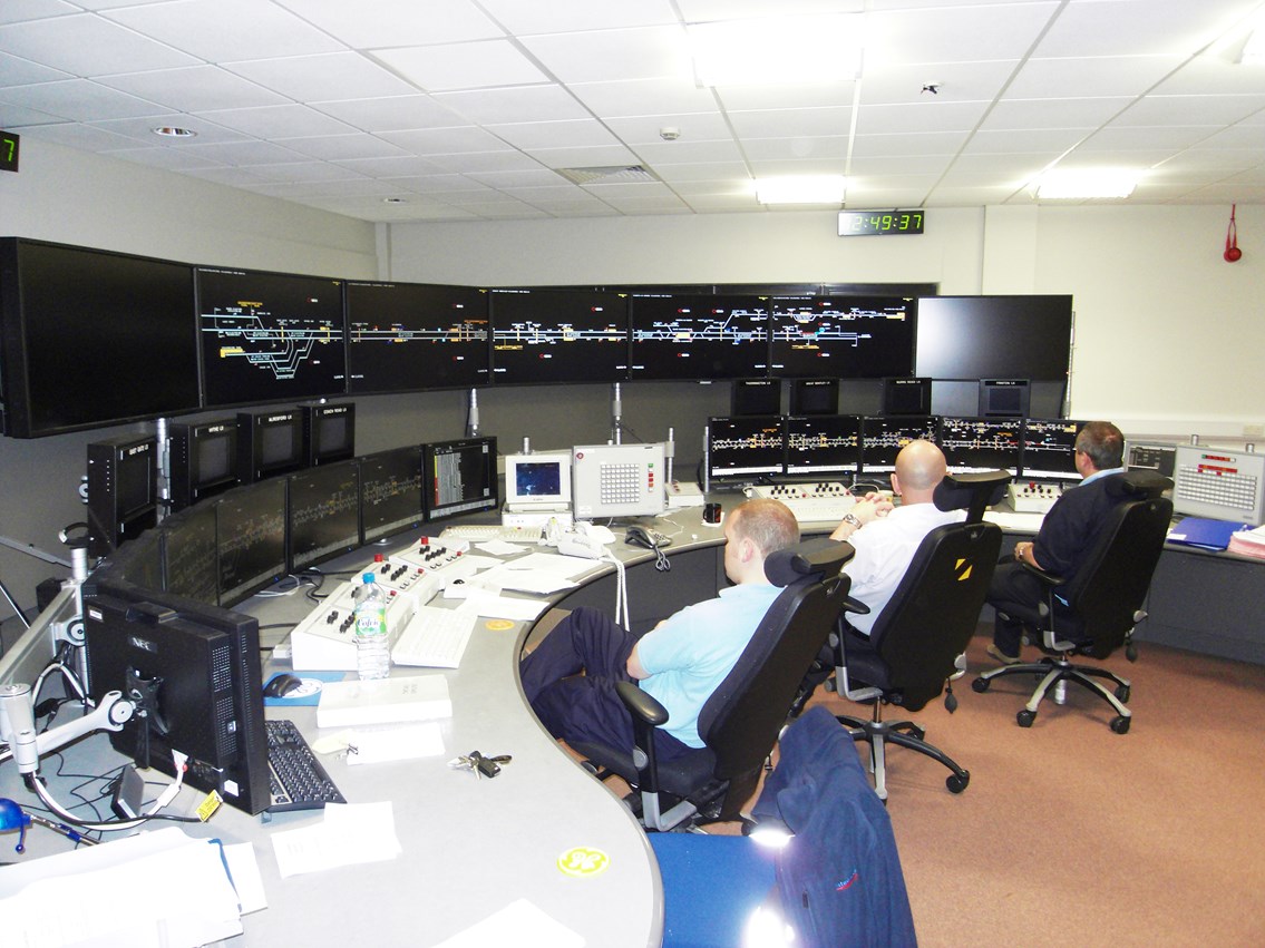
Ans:
[{"label": "large pile of white papers in the bottom-left desk corner", "polygon": [[219,843],[175,828],[10,866],[4,876],[5,944],[177,948],[242,934]]}]

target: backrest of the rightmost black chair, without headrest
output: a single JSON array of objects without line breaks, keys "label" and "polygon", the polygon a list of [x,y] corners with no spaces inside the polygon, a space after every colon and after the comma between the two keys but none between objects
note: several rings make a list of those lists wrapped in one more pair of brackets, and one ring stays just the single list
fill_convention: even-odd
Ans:
[{"label": "backrest of the rightmost black chair, without headrest", "polygon": [[1078,651],[1095,659],[1106,659],[1125,642],[1146,600],[1171,520],[1173,502],[1164,497],[1144,494],[1111,509],[1077,575],[1058,590],[1068,604],[1055,607],[1059,638],[1073,638]]}]

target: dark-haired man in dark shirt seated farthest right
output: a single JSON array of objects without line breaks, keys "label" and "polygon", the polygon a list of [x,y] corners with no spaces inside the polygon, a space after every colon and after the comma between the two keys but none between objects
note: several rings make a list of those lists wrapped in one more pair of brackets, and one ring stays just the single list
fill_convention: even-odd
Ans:
[{"label": "dark-haired man in dark shirt seated farthest right", "polygon": [[[1118,503],[1107,493],[1104,479],[1122,474],[1125,435],[1109,421],[1090,421],[1077,435],[1075,465],[1083,480],[1064,492],[1041,521],[1032,542],[1015,545],[1015,561],[1003,560],[993,574],[988,603],[1004,609],[1007,603],[1036,605],[1044,598],[1041,581],[1023,569],[1028,562],[1068,581],[1077,575],[1098,535],[1106,513]],[[988,653],[1003,665],[1020,661],[1023,626],[1001,612],[993,626]]]}]

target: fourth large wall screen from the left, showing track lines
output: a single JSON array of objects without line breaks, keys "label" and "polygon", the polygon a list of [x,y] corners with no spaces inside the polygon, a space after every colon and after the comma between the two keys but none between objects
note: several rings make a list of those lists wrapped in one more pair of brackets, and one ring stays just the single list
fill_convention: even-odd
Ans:
[{"label": "fourth large wall screen from the left, showing track lines", "polygon": [[627,377],[627,297],[587,289],[493,289],[496,382],[617,382]]}]

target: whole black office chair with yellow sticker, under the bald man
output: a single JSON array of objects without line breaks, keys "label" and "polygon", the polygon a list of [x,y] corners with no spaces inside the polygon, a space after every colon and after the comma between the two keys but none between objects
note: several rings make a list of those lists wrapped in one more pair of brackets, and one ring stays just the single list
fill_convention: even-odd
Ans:
[{"label": "whole black office chair with yellow sticker, under the bald man", "polygon": [[850,629],[842,617],[830,638],[835,678],[826,686],[832,684],[850,700],[873,703],[869,720],[850,715],[839,720],[851,729],[854,741],[870,744],[879,799],[887,799],[888,742],[945,765],[953,771],[945,786],[955,794],[970,782],[969,771],[926,742],[923,728],[912,720],[883,720],[883,705],[921,710],[956,675],[958,657],[975,632],[1002,546],[1001,527],[980,518],[1006,493],[1009,480],[1006,471],[945,477],[936,487],[935,504],[942,511],[966,508],[966,520],[927,533],[869,637]]}]

